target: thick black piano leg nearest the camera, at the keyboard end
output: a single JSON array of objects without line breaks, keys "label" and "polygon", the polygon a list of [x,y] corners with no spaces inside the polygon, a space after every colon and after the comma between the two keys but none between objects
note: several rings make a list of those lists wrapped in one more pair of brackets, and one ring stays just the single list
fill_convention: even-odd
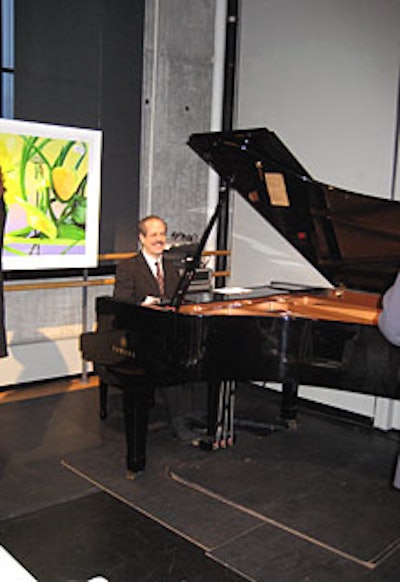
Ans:
[{"label": "thick black piano leg nearest the camera, at the keyboard end", "polygon": [[146,465],[146,440],[152,388],[145,376],[135,376],[123,389],[127,478],[135,479]]}]

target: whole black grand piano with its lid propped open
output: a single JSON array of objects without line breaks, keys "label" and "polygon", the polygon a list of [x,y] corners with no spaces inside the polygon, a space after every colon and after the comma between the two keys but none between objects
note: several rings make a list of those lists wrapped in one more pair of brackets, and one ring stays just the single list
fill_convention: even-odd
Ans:
[{"label": "whole black grand piano with its lid propped open", "polygon": [[400,204],[314,180],[266,128],[193,134],[188,145],[331,286],[269,282],[236,295],[187,294],[217,207],[168,305],[98,298],[99,323],[108,323],[84,334],[82,351],[100,375],[123,378],[133,473],[145,464],[154,385],[205,382],[210,448],[233,443],[238,380],[281,383],[287,426],[296,423],[300,384],[400,398],[400,350],[377,328],[382,292],[400,265]]}]

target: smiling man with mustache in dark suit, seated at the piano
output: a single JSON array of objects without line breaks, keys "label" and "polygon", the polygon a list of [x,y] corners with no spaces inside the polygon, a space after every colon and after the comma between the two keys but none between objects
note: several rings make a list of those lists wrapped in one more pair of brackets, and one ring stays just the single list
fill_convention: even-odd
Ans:
[{"label": "smiling man with mustache in dark suit, seated at the piano", "polygon": [[[116,298],[131,298],[142,305],[168,301],[174,295],[180,275],[175,265],[165,260],[167,224],[155,215],[143,218],[138,224],[140,252],[117,266]],[[174,435],[183,444],[196,444],[199,434],[191,428],[191,416],[196,416],[196,385],[177,385],[160,388],[167,405]]]}]

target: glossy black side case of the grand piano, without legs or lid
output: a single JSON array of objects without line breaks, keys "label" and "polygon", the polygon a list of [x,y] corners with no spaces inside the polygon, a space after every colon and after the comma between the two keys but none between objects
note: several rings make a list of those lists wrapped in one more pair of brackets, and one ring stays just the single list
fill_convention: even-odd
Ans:
[{"label": "glossy black side case of the grand piano, without legs or lid", "polygon": [[128,354],[126,370],[145,370],[156,385],[265,380],[400,398],[400,350],[375,325],[260,313],[251,299],[244,308],[242,301],[225,302],[229,315],[203,315],[195,311],[207,303],[176,313],[100,297],[97,311],[111,310],[116,329],[124,331],[119,351]]}]

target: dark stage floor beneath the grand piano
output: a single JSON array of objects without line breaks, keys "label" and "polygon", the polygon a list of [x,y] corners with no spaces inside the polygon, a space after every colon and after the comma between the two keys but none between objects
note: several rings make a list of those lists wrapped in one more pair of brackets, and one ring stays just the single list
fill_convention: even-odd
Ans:
[{"label": "dark stage floor beneath the grand piano", "polygon": [[277,396],[240,386],[227,450],[177,443],[157,403],[131,482],[109,404],[105,422],[96,389],[0,406],[0,546],[35,579],[400,580],[397,433],[308,408],[275,430]]}]

